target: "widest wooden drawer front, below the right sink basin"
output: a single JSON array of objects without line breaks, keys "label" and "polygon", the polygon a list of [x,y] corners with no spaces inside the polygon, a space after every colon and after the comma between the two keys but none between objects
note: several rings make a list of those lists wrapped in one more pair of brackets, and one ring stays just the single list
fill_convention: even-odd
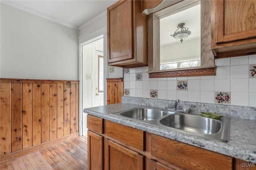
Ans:
[{"label": "widest wooden drawer front, below the right sink basin", "polygon": [[232,157],[151,135],[151,154],[182,168],[231,170]]}]

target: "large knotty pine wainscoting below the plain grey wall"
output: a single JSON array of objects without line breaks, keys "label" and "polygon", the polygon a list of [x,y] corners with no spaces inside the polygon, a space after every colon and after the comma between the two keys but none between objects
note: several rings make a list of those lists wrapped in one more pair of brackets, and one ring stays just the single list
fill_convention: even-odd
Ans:
[{"label": "large knotty pine wainscoting below the plain grey wall", "polygon": [[0,156],[78,132],[79,82],[0,79]]}]

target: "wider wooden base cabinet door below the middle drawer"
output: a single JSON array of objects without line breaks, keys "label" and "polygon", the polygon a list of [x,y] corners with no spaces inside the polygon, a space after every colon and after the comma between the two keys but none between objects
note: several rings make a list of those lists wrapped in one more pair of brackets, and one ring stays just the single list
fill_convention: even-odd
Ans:
[{"label": "wider wooden base cabinet door below the middle drawer", "polygon": [[144,156],[111,140],[105,140],[105,170],[143,170]]}]

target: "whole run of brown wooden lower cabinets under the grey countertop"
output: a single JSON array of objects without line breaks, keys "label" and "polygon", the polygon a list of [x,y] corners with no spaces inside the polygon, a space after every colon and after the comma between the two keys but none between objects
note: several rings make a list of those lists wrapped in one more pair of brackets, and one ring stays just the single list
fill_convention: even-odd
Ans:
[{"label": "whole run of brown wooden lower cabinets under the grey countertop", "polygon": [[88,170],[255,170],[255,164],[92,115]]}]

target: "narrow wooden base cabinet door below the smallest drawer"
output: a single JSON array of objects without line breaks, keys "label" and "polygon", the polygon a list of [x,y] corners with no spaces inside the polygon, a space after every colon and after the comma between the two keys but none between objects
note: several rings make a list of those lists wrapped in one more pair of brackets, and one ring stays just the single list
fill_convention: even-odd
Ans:
[{"label": "narrow wooden base cabinet door below the smallest drawer", "polygon": [[88,136],[88,170],[104,169],[104,137],[90,130]]}]

